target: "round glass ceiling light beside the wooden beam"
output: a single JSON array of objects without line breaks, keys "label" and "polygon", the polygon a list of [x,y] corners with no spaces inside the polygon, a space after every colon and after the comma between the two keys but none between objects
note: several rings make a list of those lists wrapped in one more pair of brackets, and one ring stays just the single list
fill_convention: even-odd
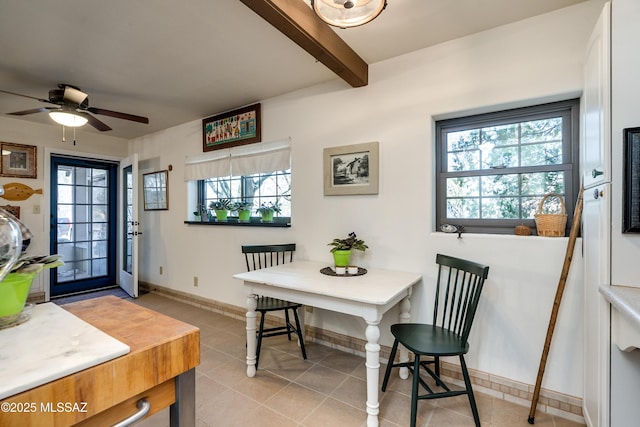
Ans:
[{"label": "round glass ceiling light beside the wooden beam", "polygon": [[349,28],[373,21],[387,0],[311,0],[316,15],[334,27]]}]

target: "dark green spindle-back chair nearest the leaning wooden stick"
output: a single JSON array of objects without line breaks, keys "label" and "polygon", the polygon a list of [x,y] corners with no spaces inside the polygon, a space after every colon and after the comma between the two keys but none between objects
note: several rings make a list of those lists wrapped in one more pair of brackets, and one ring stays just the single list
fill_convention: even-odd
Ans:
[{"label": "dark green spindle-back chair nearest the leaning wooden stick", "polygon": [[[438,399],[466,394],[471,404],[471,412],[477,427],[480,427],[478,407],[473,396],[469,372],[464,361],[464,355],[469,351],[469,333],[473,318],[478,308],[480,293],[487,276],[489,267],[438,254],[438,277],[434,299],[433,322],[399,323],[391,326],[391,333],[395,337],[389,364],[382,382],[382,391],[387,389],[389,375],[392,368],[406,367],[413,375],[411,390],[411,427],[416,425],[418,414],[418,400]],[[414,354],[414,360],[394,363],[398,344],[402,344]],[[440,357],[458,356],[464,390],[452,390],[440,377]],[[422,357],[429,357],[425,360]],[[433,368],[429,365],[433,365]],[[420,377],[420,368],[435,381],[432,389]],[[424,394],[421,393],[422,387]]]}]

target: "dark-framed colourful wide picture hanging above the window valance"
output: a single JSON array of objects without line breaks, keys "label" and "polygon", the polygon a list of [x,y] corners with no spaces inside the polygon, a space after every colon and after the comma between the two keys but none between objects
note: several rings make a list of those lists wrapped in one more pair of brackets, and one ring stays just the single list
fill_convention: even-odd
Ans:
[{"label": "dark-framed colourful wide picture hanging above the window valance", "polygon": [[202,120],[202,151],[260,142],[260,104]]}]

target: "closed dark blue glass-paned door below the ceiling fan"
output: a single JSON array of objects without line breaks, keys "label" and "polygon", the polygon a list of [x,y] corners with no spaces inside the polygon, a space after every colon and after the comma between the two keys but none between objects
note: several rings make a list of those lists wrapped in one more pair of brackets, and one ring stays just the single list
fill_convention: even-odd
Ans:
[{"label": "closed dark blue glass-paned door below the ceiling fan", "polygon": [[116,285],[116,163],[51,156],[51,296]]}]

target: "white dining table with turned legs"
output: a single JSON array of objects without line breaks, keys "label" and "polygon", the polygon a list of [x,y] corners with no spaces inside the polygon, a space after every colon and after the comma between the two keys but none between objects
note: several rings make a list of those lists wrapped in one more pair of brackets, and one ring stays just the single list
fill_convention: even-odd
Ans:
[{"label": "white dining table with turned legs", "polygon": [[[320,309],[362,317],[367,323],[367,426],[378,426],[380,405],[380,328],[382,316],[400,303],[401,323],[411,320],[412,287],[420,279],[418,273],[367,268],[358,276],[331,276],[320,273],[327,262],[294,261],[263,268],[233,277],[243,280],[247,293],[247,376],[256,374],[256,295],[280,298]],[[301,313],[303,314],[303,313]],[[400,360],[408,361],[408,352],[400,348]],[[408,377],[406,368],[400,372]]]}]

